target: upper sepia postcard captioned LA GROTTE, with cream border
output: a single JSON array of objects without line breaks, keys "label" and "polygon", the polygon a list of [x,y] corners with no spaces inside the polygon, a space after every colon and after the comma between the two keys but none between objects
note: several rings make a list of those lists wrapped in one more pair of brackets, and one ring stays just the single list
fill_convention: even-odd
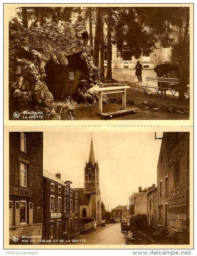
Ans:
[{"label": "upper sepia postcard captioned LA GROTTE, with cream border", "polygon": [[5,125],[192,126],[193,19],[193,4],[4,4]]}]

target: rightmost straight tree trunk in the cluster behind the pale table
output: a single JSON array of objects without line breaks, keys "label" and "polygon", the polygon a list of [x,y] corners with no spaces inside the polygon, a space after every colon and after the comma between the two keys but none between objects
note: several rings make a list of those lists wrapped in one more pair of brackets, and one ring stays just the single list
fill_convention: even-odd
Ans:
[{"label": "rightmost straight tree trunk in the cluster behind the pale table", "polygon": [[108,9],[107,14],[107,74],[106,80],[112,79],[112,72],[111,72],[111,60],[112,60],[112,51],[111,51],[111,10]]}]

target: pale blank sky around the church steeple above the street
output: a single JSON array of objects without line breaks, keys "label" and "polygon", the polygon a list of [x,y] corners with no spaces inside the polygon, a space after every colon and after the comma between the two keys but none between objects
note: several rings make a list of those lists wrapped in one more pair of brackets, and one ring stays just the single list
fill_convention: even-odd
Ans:
[{"label": "pale blank sky around the church steeple above the street", "polygon": [[[127,130],[128,131],[128,130]],[[162,133],[157,133],[162,136]],[[89,158],[91,132],[44,132],[43,167],[72,187],[82,188]],[[100,169],[100,192],[105,208],[129,204],[138,187],[156,184],[161,140],[154,133],[106,130],[93,132],[95,160]]]}]

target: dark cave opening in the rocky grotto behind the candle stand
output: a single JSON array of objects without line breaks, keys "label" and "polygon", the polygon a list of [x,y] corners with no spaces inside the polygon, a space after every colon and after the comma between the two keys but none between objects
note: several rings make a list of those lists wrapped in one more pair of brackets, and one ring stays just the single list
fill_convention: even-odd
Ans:
[{"label": "dark cave opening in the rocky grotto behind the candle stand", "polygon": [[[76,100],[79,90],[78,83],[88,75],[88,67],[85,61],[81,59],[81,53],[66,56],[68,65],[63,66],[55,63],[52,59],[46,63],[44,69],[46,74],[46,85],[52,93],[54,101],[64,101],[71,96]],[[69,73],[74,72],[74,81],[69,80]]]}]

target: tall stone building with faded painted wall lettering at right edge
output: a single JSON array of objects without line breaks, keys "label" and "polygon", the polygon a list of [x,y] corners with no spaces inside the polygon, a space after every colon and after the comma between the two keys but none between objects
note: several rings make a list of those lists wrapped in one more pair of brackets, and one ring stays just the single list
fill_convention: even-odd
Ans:
[{"label": "tall stone building with faded painted wall lettering at right edge", "polygon": [[163,133],[157,182],[157,224],[170,234],[188,234],[189,133]]}]

